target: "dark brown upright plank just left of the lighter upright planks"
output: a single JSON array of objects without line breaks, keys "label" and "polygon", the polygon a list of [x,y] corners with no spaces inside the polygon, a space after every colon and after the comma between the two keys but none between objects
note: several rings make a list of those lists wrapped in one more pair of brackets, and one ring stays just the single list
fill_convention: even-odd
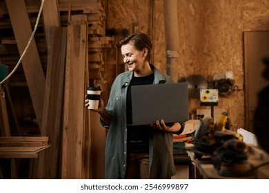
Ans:
[{"label": "dark brown upright plank just left of the lighter upright planks", "polygon": [[67,28],[51,27],[49,37],[41,136],[50,138],[52,148],[39,156],[37,179],[59,178]]}]

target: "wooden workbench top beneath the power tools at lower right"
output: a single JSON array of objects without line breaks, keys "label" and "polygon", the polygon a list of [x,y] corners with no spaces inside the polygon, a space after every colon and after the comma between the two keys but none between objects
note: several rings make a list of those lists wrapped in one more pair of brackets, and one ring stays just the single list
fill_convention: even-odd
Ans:
[{"label": "wooden workbench top beneath the power tools at lower right", "polygon": [[[218,171],[215,169],[214,165],[210,161],[209,156],[202,156],[201,159],[195,159],[195,153],[191,151],[192,144],[186,143],[186,150],[190,159],[194,163],[195,167],[199,170],[203,179],[269,179],[269,164],[263,165],[262,167],[257,168],[250,176],[243,177],[230,177],[230,176],[221,176],[218,174]],[[246,148],[246,153],[248,155],[248,163],[252,167],[256,167],[262,163],[269,161],[269,155],[258,148],[255,145],[249,145]]]}]

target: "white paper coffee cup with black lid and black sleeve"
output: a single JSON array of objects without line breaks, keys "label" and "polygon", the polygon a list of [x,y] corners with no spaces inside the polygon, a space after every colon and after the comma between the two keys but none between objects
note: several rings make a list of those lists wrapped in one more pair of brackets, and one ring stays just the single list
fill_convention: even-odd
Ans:
[{"label": "white paper coffee cup with black lid and black sleeve", "polygon": [[98,109],[100,94],[101,94],[100,87],[87,88],[87,99],[89,100],[88,109],[91,109],[91,110]]}]

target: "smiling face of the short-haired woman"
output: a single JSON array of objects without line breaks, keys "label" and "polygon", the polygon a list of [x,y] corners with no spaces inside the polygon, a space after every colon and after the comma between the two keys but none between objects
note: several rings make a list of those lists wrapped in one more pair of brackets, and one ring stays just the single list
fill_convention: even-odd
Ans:
[{"label": "smiling face of the short-haired woman", "polygon": [[133,71],[136,74],[143,73],[144,63],[148,63],[145,61],[146,52],[146,48],[139,51],[130,43],[121,46],[123,62],[126,63],[129,71]]}]

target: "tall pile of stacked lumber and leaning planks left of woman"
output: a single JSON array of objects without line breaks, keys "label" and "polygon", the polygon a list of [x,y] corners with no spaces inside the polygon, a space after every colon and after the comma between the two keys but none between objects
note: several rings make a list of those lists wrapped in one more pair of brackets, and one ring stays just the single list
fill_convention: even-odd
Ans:
[{"label": "tall pile of stacked lumber and leaning planks left of woman", "polygon": [[[40,5],[40,0],[0,2],[0,59],[10,72],[26,47]],[[38,130],[52,145],[40,152],[32,176],[89,179],[92,149],[103,144],[92,144],[92,125],[99,120],[91,120],[84,107],[86,88],[101,85],[109,93],[108,65],[116,63],[111,60],[114,37],[106,37],[101,0],[46,0],[41,17],[30,51],[9,84],[30,91]],[[37,157],[40,149],[30,148]]]}]

